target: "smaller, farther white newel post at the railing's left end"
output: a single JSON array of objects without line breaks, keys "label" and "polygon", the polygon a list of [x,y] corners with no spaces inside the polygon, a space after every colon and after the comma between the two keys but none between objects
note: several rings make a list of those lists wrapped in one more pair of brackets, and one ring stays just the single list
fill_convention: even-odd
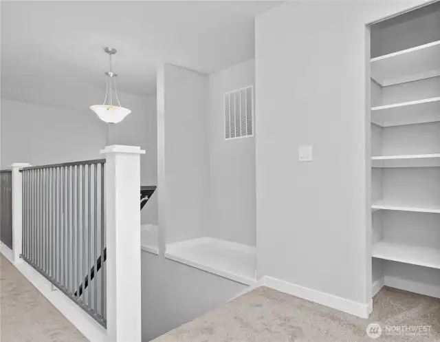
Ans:
[{"label": "smaller, farther white newel post at the railing's left end", "polygon": [[11,164],[12,169],[12,255],[14,263],[21,261],[21,247],[23,239],[23,184],[20,169],[30,167],[30,164],[16,162]]}]

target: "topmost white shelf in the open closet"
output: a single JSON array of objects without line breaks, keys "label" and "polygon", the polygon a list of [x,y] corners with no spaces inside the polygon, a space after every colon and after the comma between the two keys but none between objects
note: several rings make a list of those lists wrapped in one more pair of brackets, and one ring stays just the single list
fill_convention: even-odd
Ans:
[{"label": "topmost white shelf in the open closet", "polygon": [[371,59],[371,77],[386,87],[440,76],[440,41]]}]

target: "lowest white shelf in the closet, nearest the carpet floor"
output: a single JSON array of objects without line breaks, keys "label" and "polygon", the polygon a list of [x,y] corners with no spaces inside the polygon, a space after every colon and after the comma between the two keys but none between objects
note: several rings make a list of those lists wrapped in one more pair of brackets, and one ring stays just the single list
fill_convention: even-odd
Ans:
[{"label": "lowest white shelf in the closet, nearest the carpet floor", "polygon": [[440,249],[428,247],[406,246],[381,241],[373,245],[373,257],[405,264],[440,268]]}]

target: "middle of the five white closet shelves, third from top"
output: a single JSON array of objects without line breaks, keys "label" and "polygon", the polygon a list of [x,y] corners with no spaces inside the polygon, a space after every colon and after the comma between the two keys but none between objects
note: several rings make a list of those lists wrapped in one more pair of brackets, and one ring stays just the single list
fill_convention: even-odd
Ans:
[{"label": "middle of the five white closet shelves, third from top", "polygon": [[440,167],[440,153],[371,157],[372,167]]}]

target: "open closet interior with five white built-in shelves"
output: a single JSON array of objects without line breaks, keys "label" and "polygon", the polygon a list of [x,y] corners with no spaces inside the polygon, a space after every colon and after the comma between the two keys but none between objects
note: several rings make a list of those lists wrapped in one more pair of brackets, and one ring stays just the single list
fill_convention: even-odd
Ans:
[{"label": "open closet interior with five white built-in shelves", "polygon": [[372,25],[371,57],[373,295],[440,297],[440,3]]}]

